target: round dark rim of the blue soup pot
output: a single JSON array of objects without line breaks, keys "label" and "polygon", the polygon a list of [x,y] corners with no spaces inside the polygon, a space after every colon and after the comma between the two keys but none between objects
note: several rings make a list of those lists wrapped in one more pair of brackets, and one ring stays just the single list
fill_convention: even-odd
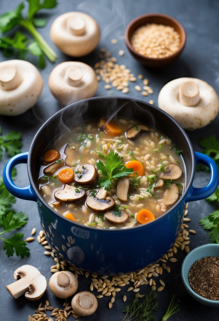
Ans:
[{"label": "round dark rim of the blue soup pot", "polygon": [[[29,180],[30,180],[30,183],[31,183],[31,187],[33,188],[34,190],[34,193],[36,194],[37,198],[39,199],[39,201],[50,211],[52,212],[53,214],[55,214],[56,216],[58,216],[59,218],[63,219],[64,221],[67,221],[68,223],[72,223],[72,226],[76,225],[78,227],[83,227],[84,229],[88,229],[88,230],[95,230],[97,233],[98,232],[102,232],[101,229],[96,229],[94,227],[91,227],[91,226],[85,226],[85,225],[82,225],[80,223],[77,223],[77,222],[70,222],[67,218],[65,218],[64,216],[62,216],[61,214],[57,213],[55,210],[53,210],[48,203],[45,202],[45,200],[43,199],[43,197],[40,195],[37,187],[36,187],[36,183],[35,183],[35,180],[33,179],[32,177],[32,173],[31,173],[31,154],[32,154],[32,150],[33,150],[33,147],[34,147],[34,144],[36,143],[37,141],[37,138],[38,138],[38,135],[39,133],[45,128],[47,127],[47,125],[50,123],[51,120],[53,120],[54,118],[56,118],[58,115],[62,114],[63,112],[65,112],[65,110],[67,109],[70,109],[72,107],[74,107],[74,105],[77,105],[79,103],[83,103],[84,101],[92,101],[92,100],[110,100],[110,99],[118,99],[118,100],[124,100],[124,101],[134,101],[134,102],[137,102],[137,103],[140,103],[140,104],[143,104],[143,105],[146,105],[146,106],[149,106],[150,108],[154,108],[156,109],[157,111],[159,111],[160,113],[164,114],[166,117],[170,118],[172,120],[172,122],[179,128],[179,130],[183,133],[183,135],[185,136],[186,138],[186,141],[188,143],[188,146],[189,146],[189,149],[190,149],[190,152],[191,152],[191,159],[192,159],[192,169],[191,169],[191,177],[189,178],[189,181],[188,181],[188,184],[187,184],[187,187],[183,193],[183,195],[179,198],[179,200],[176,202],[176,204],[173,205],[173,207],[171,207],[166,213],[162,214],[161,216],[157,217],[155,220],[147,223],[147,224],[142,224],[141,226],[135,226],[135,227],[132,227],[132,228],[128,228],[128,229],[112,229],[112,230],[109,230],[109,229],[104,229],[103,231],[104,232],[109,232],[109,233],[118,233],[118,232],[128,232],[130,230],[134,230],[134,229],[143,229],[145,228],[146,226],[151,226],[153,225],[154,223],[156,223],[158,220],[162,220],[163,218],[165,218],[167,215],[169,215],[172,211],[174,211],[175,208],[178,207],[178,205],[184,201],[185,197],[187,196],[188,192],[189,192],[189,189],[193,183],[193,178],[194,178],[194,175],[195,175],[195,165],[196,165],[196,161],[195,161],[195,153],[194,153],[194,150],[193,150],[193,146],[192,146],[192,143],[188,137],[188,135],[186,134],[185,130],[180,126],[180,124],[173,118],[171,117],[168,113],[166,113],[164,110],[160,109],[159,107],[157,106],[154,106],[154,105],[151,105],[149,104],[148,102],[146,101],[143,101],[143,100],[139,100],[139,99],[135,99],[135,98],[131,98],[131,97],[122,97],[122,96],[101,96],[101,97],[93,97],[93,98],[88,98],[88,99],[84,99],[84,100],[80,100],[80,101],[77,101],[73,104],[70,104],[68,106],[66,106],[65,108],[57,111],[57,113],[55,113],[53,116],[51,116],[50,118],[48,118],[48,120],[39,128],[39,130],[37,131],[36,135],[34,136],[33,140],[32,140],[32,143],[31,143],[31,146],[30,146],[30,149],[29,149],[29,154],[28,154],[28,161],[27,161],[27,169],[28,169],[28,176],[29,176]],[[60,133],[61,134],[61,133]],[[186,164],[186,162],[185,162]]]}]

